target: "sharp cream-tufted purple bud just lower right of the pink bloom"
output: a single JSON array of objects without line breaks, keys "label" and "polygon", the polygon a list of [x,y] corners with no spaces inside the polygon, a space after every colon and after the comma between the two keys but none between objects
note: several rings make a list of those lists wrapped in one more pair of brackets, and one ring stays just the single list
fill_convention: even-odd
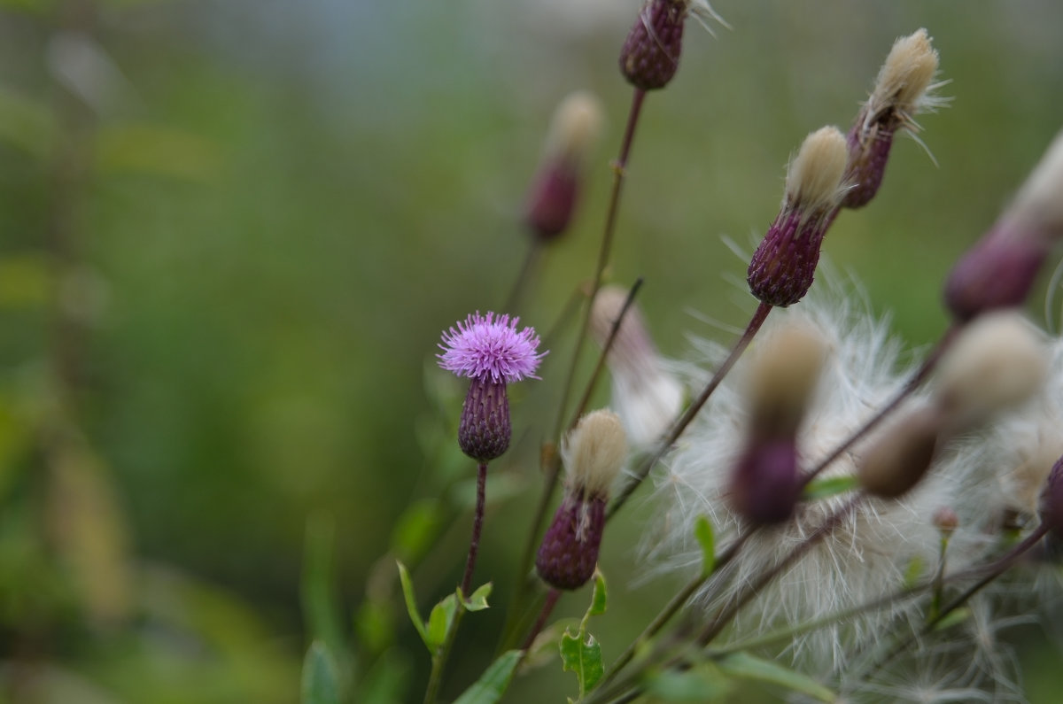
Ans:
[{"label": "sharp cream-tufted purple bud just lower right of the pink bloom", "polygon": [[561,447],[568,472],[564,499],[535,563],[542,581],[555,589],[578,589],[594,574],[609,486],[626,456],[624,430],[608,410],[584,416]]}]

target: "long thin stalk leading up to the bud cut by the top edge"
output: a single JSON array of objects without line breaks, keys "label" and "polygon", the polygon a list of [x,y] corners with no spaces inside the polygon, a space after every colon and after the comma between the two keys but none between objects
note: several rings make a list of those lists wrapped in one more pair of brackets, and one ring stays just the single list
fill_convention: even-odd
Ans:
[{"label": "long thin stalk leading up to the bud cut by the top edge", "polygon": [[[624,175],[626,173],[628,158],[631,154],[631,145],[635,141],[635,129],[639,123],[639,115],[642,112],[642,102],[645,97],[645,91],[639,89],[636,89],[635,95],[631,97],[631,106],[627,113],[627,127],[624,130],[624,138],[620,146],[620,156],[613,163],[612,192],[609,197],[605,228],[602,232],[602,246],[598,250],[597,266],[594,269],[594,279],[591,283],[590,294],[588,295],[583,324],[580,326],[579,334],[576,336],[576,347],[572,353],[572,363],[569,366],[564,385],[561,387],[561,400],[557,413],[557,423],[554,428],[552,436],[556,438],[557,441],[560,441],[561,431],[564,428],[566,408],[569,405],[569,397],[572,392],[572,386],[576,376],[576,369],[579,366],[579,356],[583,352],[584,342],[587,338],[587,331],[590,328],[590,316],[591,308],[594,305],[594,297],[597,296],[597,291],[602,287],[602,275],[605,272],[606,265],[609,263],[609,254],[612,250],[613,233],[617,229],[617,214],[620,209],[620,197],[623,191]],[[517,590],[513,594],[513,601],[510,603],[509,607],[509,624],[507,624],[507,627],[504,630],[504,642],[508,640],[508,634],[512,632],[512,623],[516,618],[513,615],[527,593],[528,581],[525,579],[525,575],[532,567],[532,556],[535,554],[536,541],[539,538],[539,534],[542,533],[543,523],[546,520],[546,512],[550,508],[551,500],[553,499],[554,491],[557,488],[557,480],[560,474],[560,459],[556,456],[556,453],[550,457],[550,460],[545,464],[543,470],[545,473],[545,483],[542,489],[542,496],[539,498],[539,503],[536,505],[535,515],[532,519],[532,529],[528,532],[528,538],[524,546],[521,561],[518,564]]]}]

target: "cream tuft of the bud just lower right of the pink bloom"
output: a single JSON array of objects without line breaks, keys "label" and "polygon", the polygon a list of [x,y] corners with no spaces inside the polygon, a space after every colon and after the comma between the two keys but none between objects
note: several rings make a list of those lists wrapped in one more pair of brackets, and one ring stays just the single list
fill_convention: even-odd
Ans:
[{"label": "cream tuft of the bud just lower right of the pink bloom", "polygon": [[579,419],[561,446],[569,490],[606,498],[627,457],[627,436],[611,410],[594,410]]}]

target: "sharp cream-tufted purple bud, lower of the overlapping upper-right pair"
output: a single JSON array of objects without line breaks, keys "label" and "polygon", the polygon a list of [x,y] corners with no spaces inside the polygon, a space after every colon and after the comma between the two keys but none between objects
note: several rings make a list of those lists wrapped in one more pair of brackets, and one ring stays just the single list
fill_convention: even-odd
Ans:
[{"label": "sharp cream-tufted purple bud, lower of the overlapping upper-right pair", "polygon": [[810,134],[791,162],[782,207],[746,276],[762,302],[792,305],[812,286],[823,236],[842,198],[846,154],[845,137],[827,127]]}]

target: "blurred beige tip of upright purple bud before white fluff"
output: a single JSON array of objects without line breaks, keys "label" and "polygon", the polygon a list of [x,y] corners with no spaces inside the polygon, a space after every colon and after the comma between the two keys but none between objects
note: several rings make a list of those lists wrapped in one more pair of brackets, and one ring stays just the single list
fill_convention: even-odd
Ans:
[{"label": "blurred beige tip of upright purple bud before white fluff", "polygon": [[754,435],[797,432],[825,356],[822,337],[807,324],[791,323],[765,337],[748,372]]}]

